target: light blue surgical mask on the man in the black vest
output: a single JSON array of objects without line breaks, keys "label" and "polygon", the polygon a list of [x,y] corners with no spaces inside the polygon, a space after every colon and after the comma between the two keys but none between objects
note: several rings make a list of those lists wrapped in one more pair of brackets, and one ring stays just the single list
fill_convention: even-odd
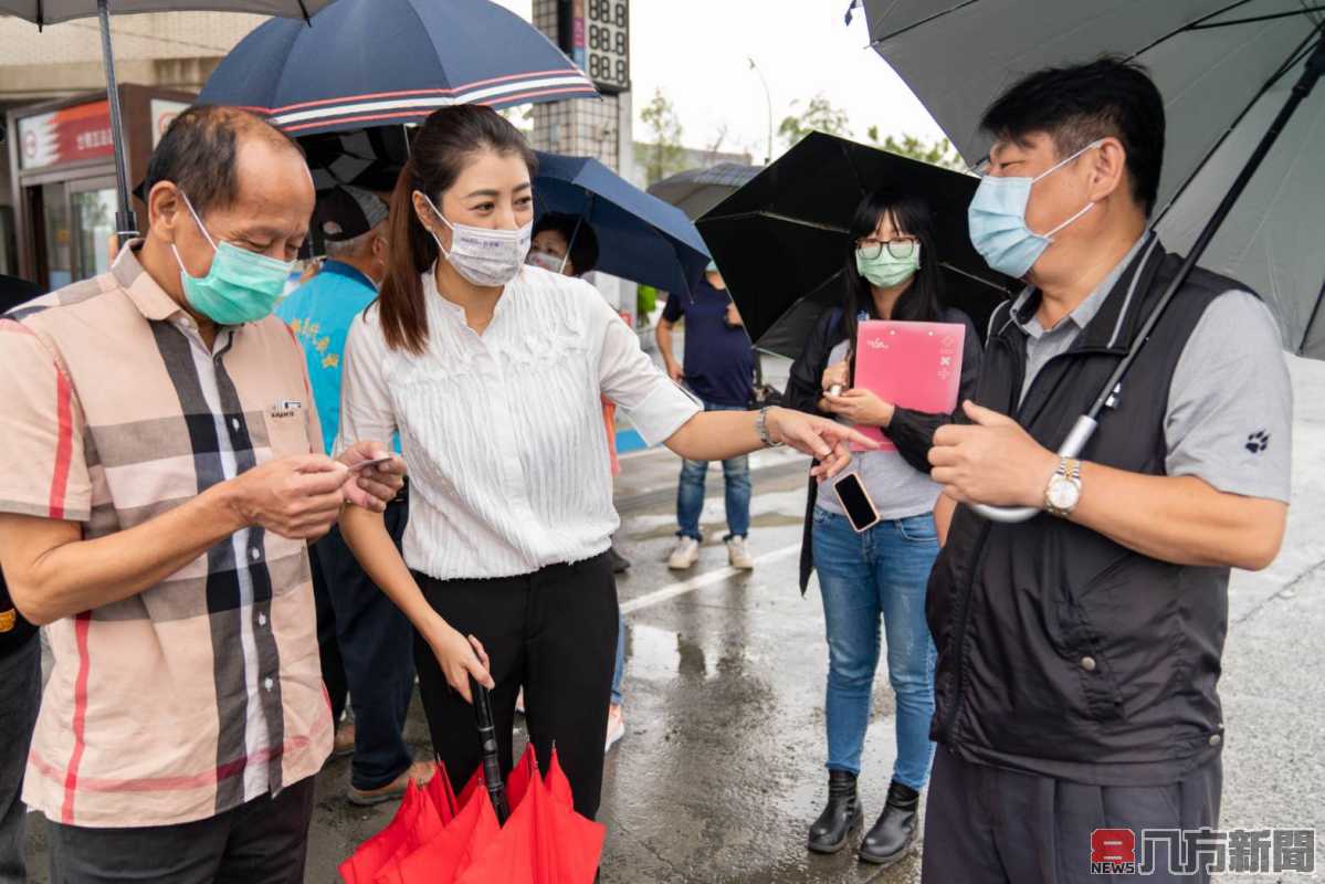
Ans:
[{"label": "light blue surgical mask on the man in the black vest", "polygon": [[1080,212],[1047,233],[1036,233],[1026,225],[1026,207],[1031,201],[1031,186],[1101,143],[1104,143],[1102,139],[1090,142],[1035,178],[986,175],[980,179],[975,197],[971,199],[970,208],[966,211],[966,220],[970,225],[971,245],[980,253],[986,264],[1011,277],[1026,276],[1044,254],[1044,249],[1049,248],[1055,233],[1094,208],[1093,201],[1086,203]]}]

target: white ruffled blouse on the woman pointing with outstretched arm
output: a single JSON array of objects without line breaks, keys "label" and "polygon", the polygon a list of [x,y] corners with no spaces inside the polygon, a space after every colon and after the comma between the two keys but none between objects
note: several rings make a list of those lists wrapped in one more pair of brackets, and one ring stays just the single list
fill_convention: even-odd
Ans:
[{"label": "white ruffled blouse on the woman pointing with outstretched arm", "polygon": [[342,445],[400,433],[405,563],[494,578],[606,551],[620,520],[600,396],[649,444],[701,407],[587,282],[523,268],[482,335],[431,272],[423,286],[427,351],[390,350],[372,305],[350,327],[341,386]]}]

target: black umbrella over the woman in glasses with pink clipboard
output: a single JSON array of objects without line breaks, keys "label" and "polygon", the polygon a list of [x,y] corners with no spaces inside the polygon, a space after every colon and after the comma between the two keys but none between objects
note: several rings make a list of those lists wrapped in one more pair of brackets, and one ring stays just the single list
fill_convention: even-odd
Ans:
[{"label": "black umbrella over the woman in glasses with pink clipboard", "polygon": [[971,247],[966,207],[979,179],[814,133],[700,219],[755,347],[795,358],[840,301],[848,227],[860,200],[892,187],[929,200],[949,302],[983,329],[1019,284]]}]

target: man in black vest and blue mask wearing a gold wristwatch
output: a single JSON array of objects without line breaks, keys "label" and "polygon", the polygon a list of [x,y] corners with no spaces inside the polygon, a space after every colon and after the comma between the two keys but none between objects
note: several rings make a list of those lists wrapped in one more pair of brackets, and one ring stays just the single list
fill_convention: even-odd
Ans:
[{"label": "man in black vest and blue mask wearing a gold wristwatch", "polygon": [[947,836],[924,881],[1207,881],[1182,832],[1218,826],[1228,573],[1271,563],[1288,510],[1279,329],[1195,270],[1081,460],[1060,459],[1179,265],[1147,229],[1163,103],[1106,58],[1026,77],[982,126],[971,240],[1028,286],[994,313],[969,423],[930,451],[946,545],[925,824]]}]

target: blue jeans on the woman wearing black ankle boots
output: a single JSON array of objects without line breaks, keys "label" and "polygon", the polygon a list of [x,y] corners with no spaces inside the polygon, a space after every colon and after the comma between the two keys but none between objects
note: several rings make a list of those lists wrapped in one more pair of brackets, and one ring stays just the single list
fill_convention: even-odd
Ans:
[{"label": "blue jeans on the woman wearing black ankle boots", "polygon": [[814,520],[828,634],[828,769],[860,773],[882,616],[888,681],[897,698],[893,779],[918,791],[934,754],[935,653],[925,622],[925,586],[938,555],[934,517],[884,521],[863,534],[844,516],[819,508]]}]

